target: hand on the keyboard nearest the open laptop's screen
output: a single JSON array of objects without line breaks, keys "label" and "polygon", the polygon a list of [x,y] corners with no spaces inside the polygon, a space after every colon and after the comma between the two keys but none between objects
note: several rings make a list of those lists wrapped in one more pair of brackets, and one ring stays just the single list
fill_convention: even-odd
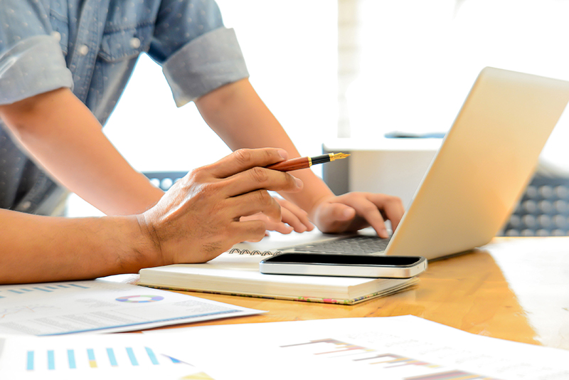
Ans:
[{"label": "hand on the keyboard nearest the open laptop's screen", "polygon": [[317,204],[314,224],[324,233],[358,231],[372,226],[381,238],[388,238],[385,220],[393,231],[403,218],[403,204],[395,196],[372,193],[348,193],[332,196]]}]

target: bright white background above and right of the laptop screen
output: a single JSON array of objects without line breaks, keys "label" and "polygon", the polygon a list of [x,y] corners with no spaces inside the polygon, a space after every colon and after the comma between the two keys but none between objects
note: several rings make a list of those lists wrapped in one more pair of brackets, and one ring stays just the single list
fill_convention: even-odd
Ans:
[{"label": "bright white background above and right of the laptop screen", "polygon": [[[446,132],[485,66],[569,80],[569,1],[359,0],[351,137]],[[563,121],[542,158],[569,173]]]}]

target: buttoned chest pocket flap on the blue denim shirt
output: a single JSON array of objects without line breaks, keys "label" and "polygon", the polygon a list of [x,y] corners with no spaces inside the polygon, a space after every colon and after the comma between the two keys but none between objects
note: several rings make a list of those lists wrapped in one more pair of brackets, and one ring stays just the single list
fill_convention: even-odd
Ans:
[{"label": "buttoned chest pocket flap on the blue denim shirt", "polygon": [[105,31],[102,36],[99,58],[106,62],[116,62],[135,58],[149,50],[154,25],[147,23],[136,28],[119,31]]}]

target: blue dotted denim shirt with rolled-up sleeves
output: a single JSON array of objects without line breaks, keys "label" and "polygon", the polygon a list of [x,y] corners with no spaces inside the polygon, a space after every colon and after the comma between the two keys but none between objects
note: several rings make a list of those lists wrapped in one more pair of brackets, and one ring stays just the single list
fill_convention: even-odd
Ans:
[{"label": "blue dotted denim shirt with rolled-up sleeves", "polygon": [[[105,124],[144,52],[162,66],[178,106],[248,76],[213,0],[2,0],[0,7],[3,105],[68,87]],[[2,126],[0,208],[50,213],[41,204],[54,186]]]}]

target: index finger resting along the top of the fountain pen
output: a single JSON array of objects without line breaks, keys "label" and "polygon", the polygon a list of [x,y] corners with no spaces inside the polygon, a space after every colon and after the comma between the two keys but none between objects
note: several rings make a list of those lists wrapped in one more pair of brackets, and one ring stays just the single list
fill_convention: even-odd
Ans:
[{"label": "index finger resting along the top of the fountain pen", "polygon": [[266,167],[284,161],[287,157],[284,149],[238,149],[207,168],[217,178],[228,178],[253,167]]}]

